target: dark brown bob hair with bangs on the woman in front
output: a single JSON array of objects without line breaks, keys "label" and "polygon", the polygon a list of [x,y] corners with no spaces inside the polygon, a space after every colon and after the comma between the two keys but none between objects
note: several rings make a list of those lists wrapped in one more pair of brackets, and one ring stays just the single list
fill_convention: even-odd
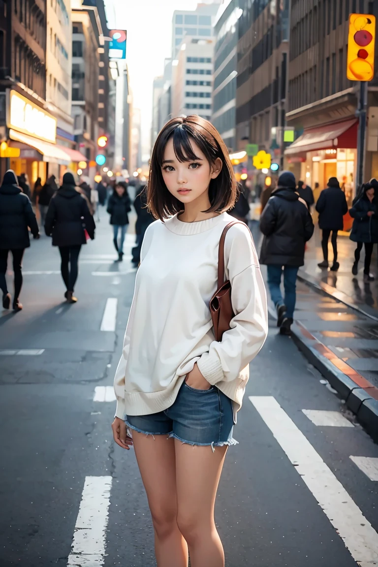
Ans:
[{"label": "dark brown bob hair with bangs on the woman in front", "polygon": [[222,160],[222,170],[218,177],[210,180],[210,209],[202,212],[222,213],[231,209],[236,201],[236,180],[228,157],[227,147],[218,130],[200,116],[179,116],[165,124],[152,151],[147,185],[147,206],[154,217],[164,221],[171,215],[184,210],[182,202],[169,193],[162,175],[164,150],[170,138],[173,138],[173,148],[180,162],[192,162],[198,159],[198,156],[193,152],[190,141],[197,144],[210,165],[214,164],[217,158]]}]

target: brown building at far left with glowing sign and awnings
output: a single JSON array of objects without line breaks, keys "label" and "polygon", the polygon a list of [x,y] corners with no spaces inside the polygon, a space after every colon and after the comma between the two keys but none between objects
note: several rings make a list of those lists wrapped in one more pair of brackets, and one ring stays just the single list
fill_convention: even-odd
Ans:
[{"label": "brown building at far left with glowing sign and awnings", "polygon": [[0,2],[0,175],[11,167],[31,187],[71,163],[46,103],[46,35],[45,2]]}]

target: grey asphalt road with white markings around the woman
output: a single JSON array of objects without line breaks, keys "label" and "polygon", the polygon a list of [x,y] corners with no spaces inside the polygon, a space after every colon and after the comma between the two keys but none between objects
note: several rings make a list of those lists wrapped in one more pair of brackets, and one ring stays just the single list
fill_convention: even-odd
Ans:
[{"label": "grey asphalt road with white markings around the woman", "polygon": [[[1,312],[1,567],[155,565],[134,451],[111,430],[135,235],[116,263],[100,218],[77,304],[42,235],[24,256],[23,311]],[[324,382],[271,319],[216,501],[227,567],[378,565],[378,447]]]}]

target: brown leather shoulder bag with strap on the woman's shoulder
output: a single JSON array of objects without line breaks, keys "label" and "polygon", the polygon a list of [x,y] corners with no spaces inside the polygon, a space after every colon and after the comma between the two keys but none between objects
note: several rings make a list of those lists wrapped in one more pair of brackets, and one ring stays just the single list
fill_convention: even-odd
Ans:
[{"label": "brown leather shoulder bag with strap on the woman's shoulder", "polygon": [[233,225],[245,225],[244,222],[232,221],[223,230],[219,240],[218,252],[218,288],[210,301],[211,319],[213,319],[214,336],[216,341],[221,341],[223,333],[230,329],[230,321],[235,316],[231,303],[231,283],[224,281],[224,240],[228,229]]}]

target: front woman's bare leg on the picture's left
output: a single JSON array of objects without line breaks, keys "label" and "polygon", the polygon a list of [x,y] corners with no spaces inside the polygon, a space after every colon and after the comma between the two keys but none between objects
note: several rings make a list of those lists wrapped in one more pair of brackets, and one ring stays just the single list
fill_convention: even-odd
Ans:
[{"label": "front woman's bare leg on the picture's left", "polygon": [[188,567],[188,545],[177,526],[174,440],[137,431],[132,435],[154,525],[156,563],[158,567]]}]

